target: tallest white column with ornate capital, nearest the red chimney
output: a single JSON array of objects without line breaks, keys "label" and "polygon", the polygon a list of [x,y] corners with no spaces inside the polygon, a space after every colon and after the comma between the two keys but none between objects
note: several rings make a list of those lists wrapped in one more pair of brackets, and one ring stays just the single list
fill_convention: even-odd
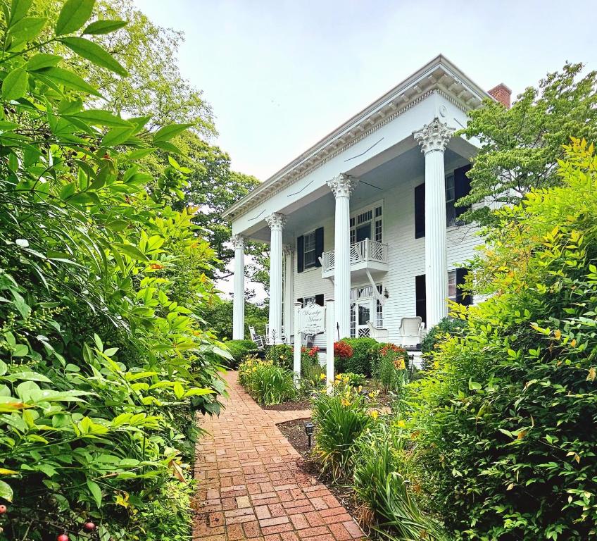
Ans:
[{"label": "tallest white column with ornate capital, nearest the red chimney", "polygon": [[444,151],[454,130],[434,118],[413,135],[425,154],[425,296],[427,328],[448,315]]}]

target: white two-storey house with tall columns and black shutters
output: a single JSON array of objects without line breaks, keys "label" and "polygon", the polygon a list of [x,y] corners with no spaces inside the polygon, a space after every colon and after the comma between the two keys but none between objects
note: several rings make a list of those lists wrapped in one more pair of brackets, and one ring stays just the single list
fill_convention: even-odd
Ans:
[{"label": "white two-storey house with tall columns and black shutters", "polygon": [[[401,318],[427,328],[463,299],[459,263],[482,240],[460,225],[475,142],[453,137],[494,97],[437,56],[227,209],[232,221],[234,339],[244,337],[244,240],[270,243],[270,334],[291,332],[293,306],[334,299],[339,337]],[[320,336],[320,343],[325,337]]]}]

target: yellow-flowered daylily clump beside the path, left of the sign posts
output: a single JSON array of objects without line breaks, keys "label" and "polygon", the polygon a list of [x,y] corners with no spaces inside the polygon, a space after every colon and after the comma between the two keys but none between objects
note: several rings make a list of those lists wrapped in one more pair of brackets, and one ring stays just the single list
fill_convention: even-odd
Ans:
[{"label": "yellow-flowered daylily clump beside the path, left of the sign posts", "polygon": [[239,366],[239,383],[259,404],[272,406],[296,397],[294,373],[272,361],[249,356]]}]

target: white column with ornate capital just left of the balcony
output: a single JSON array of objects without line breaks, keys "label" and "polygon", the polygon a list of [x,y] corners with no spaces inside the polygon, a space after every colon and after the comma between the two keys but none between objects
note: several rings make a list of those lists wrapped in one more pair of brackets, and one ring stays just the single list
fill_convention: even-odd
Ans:
[{"label": "white column with ornate capital just left of the balcony", "polygon": [[358,179],[342,173],[327,181],[336,197],[334,226],[334,313],[339,336],[351,335],[351,194]]}]

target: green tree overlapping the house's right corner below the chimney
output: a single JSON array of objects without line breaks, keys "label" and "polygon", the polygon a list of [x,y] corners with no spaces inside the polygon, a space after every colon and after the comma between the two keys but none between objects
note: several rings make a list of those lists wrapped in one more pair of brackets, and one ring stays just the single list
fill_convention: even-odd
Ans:
[{"label": "green tree overlapping the house's right corner below the chimney", "polygon": [[[486,99],[470,111],[459,135],[481,143],[468,176],[470,194],[458,206],[483,202],[517,204],[530,189],[558,185],[558,160],[570,134],[597,140],[597,72],[582,75],[581,63],[566,63],[549,73],[539,88],[529,87],[510,109]],[[491,209],[481,206],[462,216],[482,225],[491,223]]]}]

